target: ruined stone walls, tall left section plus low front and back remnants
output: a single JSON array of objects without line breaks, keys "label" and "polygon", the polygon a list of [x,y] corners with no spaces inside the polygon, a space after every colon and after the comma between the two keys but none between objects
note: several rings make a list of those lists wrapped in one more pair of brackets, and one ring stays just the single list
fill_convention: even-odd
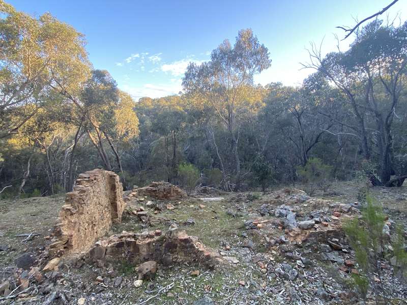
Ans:
[{"label": "ruined stone walls, tall left section plus low front and back remnants", "polygon": [[[175,199],[184,192],[167,182],[154,182],[138,189],[144,196]],[[137,196],[137,191],[127,200]],[[180,262],[199,262],[209,268],[225,264],[219,253],[206,248],[197,237],[189,236],[176,227],[162,234],[161,230],[141,233],[123,232],[100,239],[113,223],[121,223],[126,203],[119,176],[113,172],[95,169],[80,174],[74,191],[66,194],[56,226],[49,256],[70,254],[77,262],[89,260],[97,264],[124,259],[133,264],[158,261],[164,265]],[[97,241],[97,242],[96,242]]]}]

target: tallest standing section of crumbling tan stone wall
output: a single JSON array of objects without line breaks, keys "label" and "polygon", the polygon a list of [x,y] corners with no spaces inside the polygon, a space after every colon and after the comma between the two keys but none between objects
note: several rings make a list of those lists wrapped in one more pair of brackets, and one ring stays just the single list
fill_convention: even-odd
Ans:
[{"label": "tallest standing section of crumbling tan stone wall", "polygon": [[113,223],[121,223],[125,202],[119,176],[95,169],[80,174],[73,192],[66,194],[51,256],[88,251]]}]

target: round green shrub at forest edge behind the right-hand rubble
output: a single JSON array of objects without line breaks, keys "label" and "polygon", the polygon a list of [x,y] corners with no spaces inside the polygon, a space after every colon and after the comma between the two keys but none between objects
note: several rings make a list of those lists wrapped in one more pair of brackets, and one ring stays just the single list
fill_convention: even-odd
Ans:
[{"label": "round green shrub at forest edge behind the right-hand rubble", "polygon": [[332,166],[324,164],[321,159],[310,158],[305,166],[297,168],[297,172],[309,195],[313,195],[317,188],[327,191],[331,185]]}]

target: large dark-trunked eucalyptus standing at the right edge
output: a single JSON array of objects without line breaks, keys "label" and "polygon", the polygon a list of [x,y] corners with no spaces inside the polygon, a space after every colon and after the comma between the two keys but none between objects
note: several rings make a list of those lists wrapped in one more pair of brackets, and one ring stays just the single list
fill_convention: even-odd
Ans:
[{"label": "large dark-trunked eucalyptus standing at the right edge", "polygon": [[376,20],[358,33],[346,54],[348,66],[361,74],[369,90],[366,112],[374,118],[373,144],[378,150],[379,178],[373,184],[401,186],[407,172],[391,178],[393,167],[392,125],[406,85],[407,23],[382,25]]}]

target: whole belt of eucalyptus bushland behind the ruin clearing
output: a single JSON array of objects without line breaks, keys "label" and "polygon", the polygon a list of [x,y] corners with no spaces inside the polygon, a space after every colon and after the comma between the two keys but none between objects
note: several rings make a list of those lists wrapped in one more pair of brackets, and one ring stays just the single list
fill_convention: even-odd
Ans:
[{"label": "whole belt of eucalyptus bushland behind the ruin clearing", "polygon": [[407,24],[375,20],[344,52],[313,48],[304,66],[315,73],[299,87],[253,82],[272,54],[245,29],[189,65],[180,95],[134,101],[93,69],[71,26],[3,1],[0,13],[0,196],[70,191],[96,167],[126,188],[302,179],[313,191],[360,171],[388,187],[407,177]]}]

